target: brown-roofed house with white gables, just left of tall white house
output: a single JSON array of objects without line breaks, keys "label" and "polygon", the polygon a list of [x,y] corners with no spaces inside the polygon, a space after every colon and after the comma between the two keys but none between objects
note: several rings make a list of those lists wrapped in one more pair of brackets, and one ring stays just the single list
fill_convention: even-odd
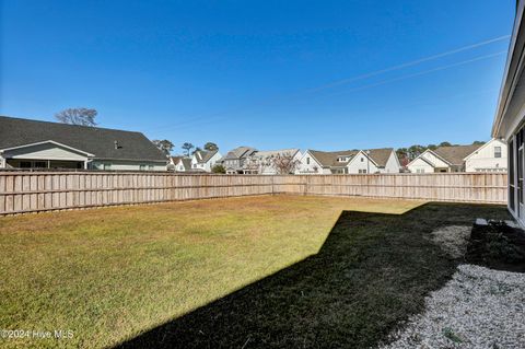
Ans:
[{"label": "brown-roofed house with white gables, just left of tall white house", "polygon": [[465,172],[465,158],[482,144],[439,147],[427,149],[408,165],[411,173]]}]

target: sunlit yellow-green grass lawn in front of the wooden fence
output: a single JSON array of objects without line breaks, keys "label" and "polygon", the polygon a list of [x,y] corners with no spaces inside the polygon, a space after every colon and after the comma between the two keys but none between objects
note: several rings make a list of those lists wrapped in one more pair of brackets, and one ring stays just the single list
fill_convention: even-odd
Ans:
[{"label": "sunlit yellow-green grass lawn in front of the wooden fence", "polygon": [[[249,290],[248,284],[254,281],[301,265],[301,260],[319,252],[343,210],[402,213],[418,205],[400,200],[267,196],[0,218],[0,329],[73,331],[72,339],[62,340],[0,338],[0,347],[115,346],[176,318],[195,317],[199,306],[207,305],[205,309],[212,312],[214,303],[210,302],[228,299],[235,290]],[[362,240],[371,246],[380,244],[386,228],[372,226],[375,228],[352,228],[358,237],[348,236],[340,248],[350,248],[347,252],[353,256]],[[352,247],[355,241],[358,245]],[[330,266],[324,268],[329,277]],[[388,265],[383,268],[388,272]],[[313,278],[310,287],[316,282]],[[327,296],[335,296],[319,292],[315,295],[319,305],[325,304]],[[285,291],[280,294],[290,295]],[[301,290],[294,289],[293,294],[301,294]],[[282,309],[278,301],[271,304]],[[268,312],[279,312],[266,305]],[[242,313],[242,309],[237,311]],[[180,317],[184,314],[187,315]],[[318,318],[319,324],[326,321],[339,319]],[[266,339],[252,342],[281,344],[279,340],[288,338],[284,334],[281,339],[271,338],[280,338],[279,324],[285,322],[282,317],[261,324],[262,328],[271,324],[276,333],[259,334]],[[242,336],[246,334],[232,328],[232,334],[241,336],[235,342],[244,344]],[[336,331],[340,330],[336,326]],[[308,334],[303,339],[312,342],[313,334]],[[203,344],[185,338],[189,346]],[[229,347],[232,342],[218,345]],[[176,342],[171,341],[170,346]]]}]

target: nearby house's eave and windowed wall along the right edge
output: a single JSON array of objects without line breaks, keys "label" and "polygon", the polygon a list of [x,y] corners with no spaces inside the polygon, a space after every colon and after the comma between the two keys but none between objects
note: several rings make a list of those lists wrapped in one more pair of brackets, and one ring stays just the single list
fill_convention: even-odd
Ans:
[{"label": "nearby house's eave and windowed wall along the right edge", "polygon": [[492,137],[502,139],[509,148],[508,207],[525,226],[525,0],[516,1],[505,71],[492,125]]}]

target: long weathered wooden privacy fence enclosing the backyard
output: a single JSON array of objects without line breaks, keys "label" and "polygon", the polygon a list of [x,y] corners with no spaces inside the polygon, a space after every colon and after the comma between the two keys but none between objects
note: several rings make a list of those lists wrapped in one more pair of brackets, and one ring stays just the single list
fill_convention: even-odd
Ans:
[{"label": "long weathered wooden privacy fence enclosing the backyard", "polygon": [[0,172],[0,214],[268,194],[505,203],[506,174],[230,176]]}]

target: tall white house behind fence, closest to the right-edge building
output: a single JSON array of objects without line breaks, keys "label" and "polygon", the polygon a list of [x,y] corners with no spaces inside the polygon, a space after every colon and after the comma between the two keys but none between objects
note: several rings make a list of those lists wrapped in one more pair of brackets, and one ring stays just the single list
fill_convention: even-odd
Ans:
[{"label": "tall white house behind fence, closest to the right-edge building", "polygon": [[505,172],[506,144],[492,138],[465,158],[465,172]]}]

